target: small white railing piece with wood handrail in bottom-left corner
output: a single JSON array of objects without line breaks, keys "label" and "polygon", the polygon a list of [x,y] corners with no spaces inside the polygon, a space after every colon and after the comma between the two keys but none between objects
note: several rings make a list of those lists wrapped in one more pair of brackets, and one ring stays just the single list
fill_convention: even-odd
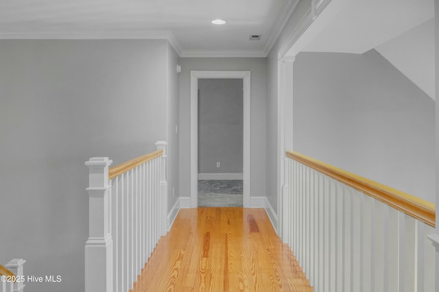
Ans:
[{"label": "small white railing piece with wood handrail in bottom-left corner", "polygon": [[0,265],[0,292],[23,292],[27,279],[23,273],[23,258],[14,258],[5,267]]}]

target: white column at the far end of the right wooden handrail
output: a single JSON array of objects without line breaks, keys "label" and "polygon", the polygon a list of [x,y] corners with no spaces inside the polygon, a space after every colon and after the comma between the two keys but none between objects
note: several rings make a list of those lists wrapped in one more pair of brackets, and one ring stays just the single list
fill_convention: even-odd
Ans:
[{"label": "white column at the far end of the right wooden handrail", "polygon": [[293,62],[285,56],[278,61],[278,228],[283,242],[289,238],[289,185],[285,151],[293,149]]}]

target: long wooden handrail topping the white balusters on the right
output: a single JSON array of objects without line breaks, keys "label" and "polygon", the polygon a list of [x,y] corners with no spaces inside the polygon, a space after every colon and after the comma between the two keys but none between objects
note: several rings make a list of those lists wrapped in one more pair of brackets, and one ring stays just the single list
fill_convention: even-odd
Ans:
[{"label": "long wooden handrail topping the white balusters on the right", "polygon": [[334,180],[338,180],[339,182],[351,186],[384,204],[388,204],[396,210],[405,212],[405,214],[423,221],[433,228],[436,227],[436,206],[433,203],[396,190],[395,188],[390,188],[390,186],[385,186],[379,182],[368,180],[367,178],[328,165],[327,163],[299,154],[295,151],[286,151],[286,155],[303,165],[307,165],[312,169],[316,169],[316,171],[328,175]]}]

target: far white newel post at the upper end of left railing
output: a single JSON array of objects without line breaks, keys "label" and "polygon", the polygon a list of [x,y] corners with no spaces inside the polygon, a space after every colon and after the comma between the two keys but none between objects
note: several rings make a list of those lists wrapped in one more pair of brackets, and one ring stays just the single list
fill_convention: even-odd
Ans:
[{"label": "far white newel post at the upper end of left railing", "polygon": [[163,149],[163,155],[160,158],[160,234],[165,236],[169,230],[167,220],[167,142],[157,141],[157,150]]}]

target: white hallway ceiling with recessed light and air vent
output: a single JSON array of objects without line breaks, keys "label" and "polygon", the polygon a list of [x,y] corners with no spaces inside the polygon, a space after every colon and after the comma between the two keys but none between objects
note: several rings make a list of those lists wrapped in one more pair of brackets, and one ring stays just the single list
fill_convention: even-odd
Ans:
[{"label": "white hallway ceiling with recessed light and air vent", "polygon": [[[0,38],[167,38],[181,56],[266,56],[296,0],[2,0]],[[215,26],[213,19],[226,25]],[[249,40],[261,34],[261,40]]]}]

